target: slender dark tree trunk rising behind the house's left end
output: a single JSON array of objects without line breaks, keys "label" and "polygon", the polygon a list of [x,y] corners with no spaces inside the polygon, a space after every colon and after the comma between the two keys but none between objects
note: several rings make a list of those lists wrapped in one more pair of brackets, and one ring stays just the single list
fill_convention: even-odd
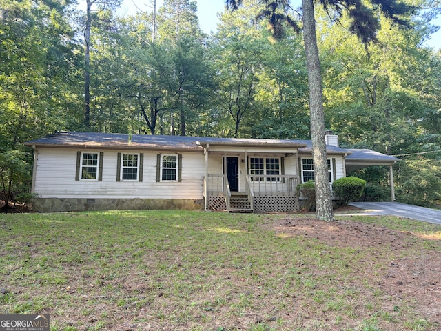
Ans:
[{"label": "slender dark tree trunk rising behind the house's left end", "polygon": [[92,1],[87,0],[86,20],[84,29],[84,125],[90,127],[90,26],[92,24]]}]

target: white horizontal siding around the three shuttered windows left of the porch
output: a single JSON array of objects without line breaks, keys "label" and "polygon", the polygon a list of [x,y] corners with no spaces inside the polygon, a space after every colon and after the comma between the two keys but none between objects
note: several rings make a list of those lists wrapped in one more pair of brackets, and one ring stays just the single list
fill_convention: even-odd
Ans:
[{"label": "white horizontal siding around the three shuttered windows left of the porch", "polygon": [[[158,151],[81,150],[103,152],[103,180],[75,181],[76,152],[80,149],[39,148],[34,193],[41,198],[202,199],[205,159],[202,153],[182,154],[182,181],[156,182]],[[143,153],[143,181],[116,181],[117,154]],[[172,152],[174,153],[174,152]],[[167,152],[167,154],[171,154]],[[176,153],[177,154],[177,153]]]}]

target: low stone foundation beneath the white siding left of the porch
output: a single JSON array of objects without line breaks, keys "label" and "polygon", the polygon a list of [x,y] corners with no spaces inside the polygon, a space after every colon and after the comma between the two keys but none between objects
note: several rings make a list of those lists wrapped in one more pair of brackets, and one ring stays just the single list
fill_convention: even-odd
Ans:
[{"label": "low stone foundation beneath the white siding left of the porch", "polygon": [[203,210],[203,199],[74,199],[36,198],[37,212],[88,210]]}]

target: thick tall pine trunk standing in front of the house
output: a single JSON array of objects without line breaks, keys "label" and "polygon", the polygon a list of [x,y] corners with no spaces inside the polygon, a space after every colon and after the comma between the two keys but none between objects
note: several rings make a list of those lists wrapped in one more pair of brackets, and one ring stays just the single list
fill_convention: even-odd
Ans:
[{"label": "thick tall pine trunk standing in front of the house", "polygon": [[302,0],[303,39],[309,83],[309,111],[311,117],[312,157],[316,183],[316,218],[320,221],[334,221],[331,188],[325,143],[325,113],[323,111],[322,77],[314,19],[314,0]]}]

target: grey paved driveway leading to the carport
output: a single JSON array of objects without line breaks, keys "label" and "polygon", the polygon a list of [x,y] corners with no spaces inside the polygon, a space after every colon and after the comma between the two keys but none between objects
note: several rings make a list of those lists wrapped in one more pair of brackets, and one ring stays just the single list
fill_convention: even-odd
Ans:
[{"label": "grey paved driveway leading to the carport", "polygon": [[356,213],[357,215],[392,215],[441,225],[441,210],[398,202],[353,202],[349,204],[365,209],[365,212]]}]

